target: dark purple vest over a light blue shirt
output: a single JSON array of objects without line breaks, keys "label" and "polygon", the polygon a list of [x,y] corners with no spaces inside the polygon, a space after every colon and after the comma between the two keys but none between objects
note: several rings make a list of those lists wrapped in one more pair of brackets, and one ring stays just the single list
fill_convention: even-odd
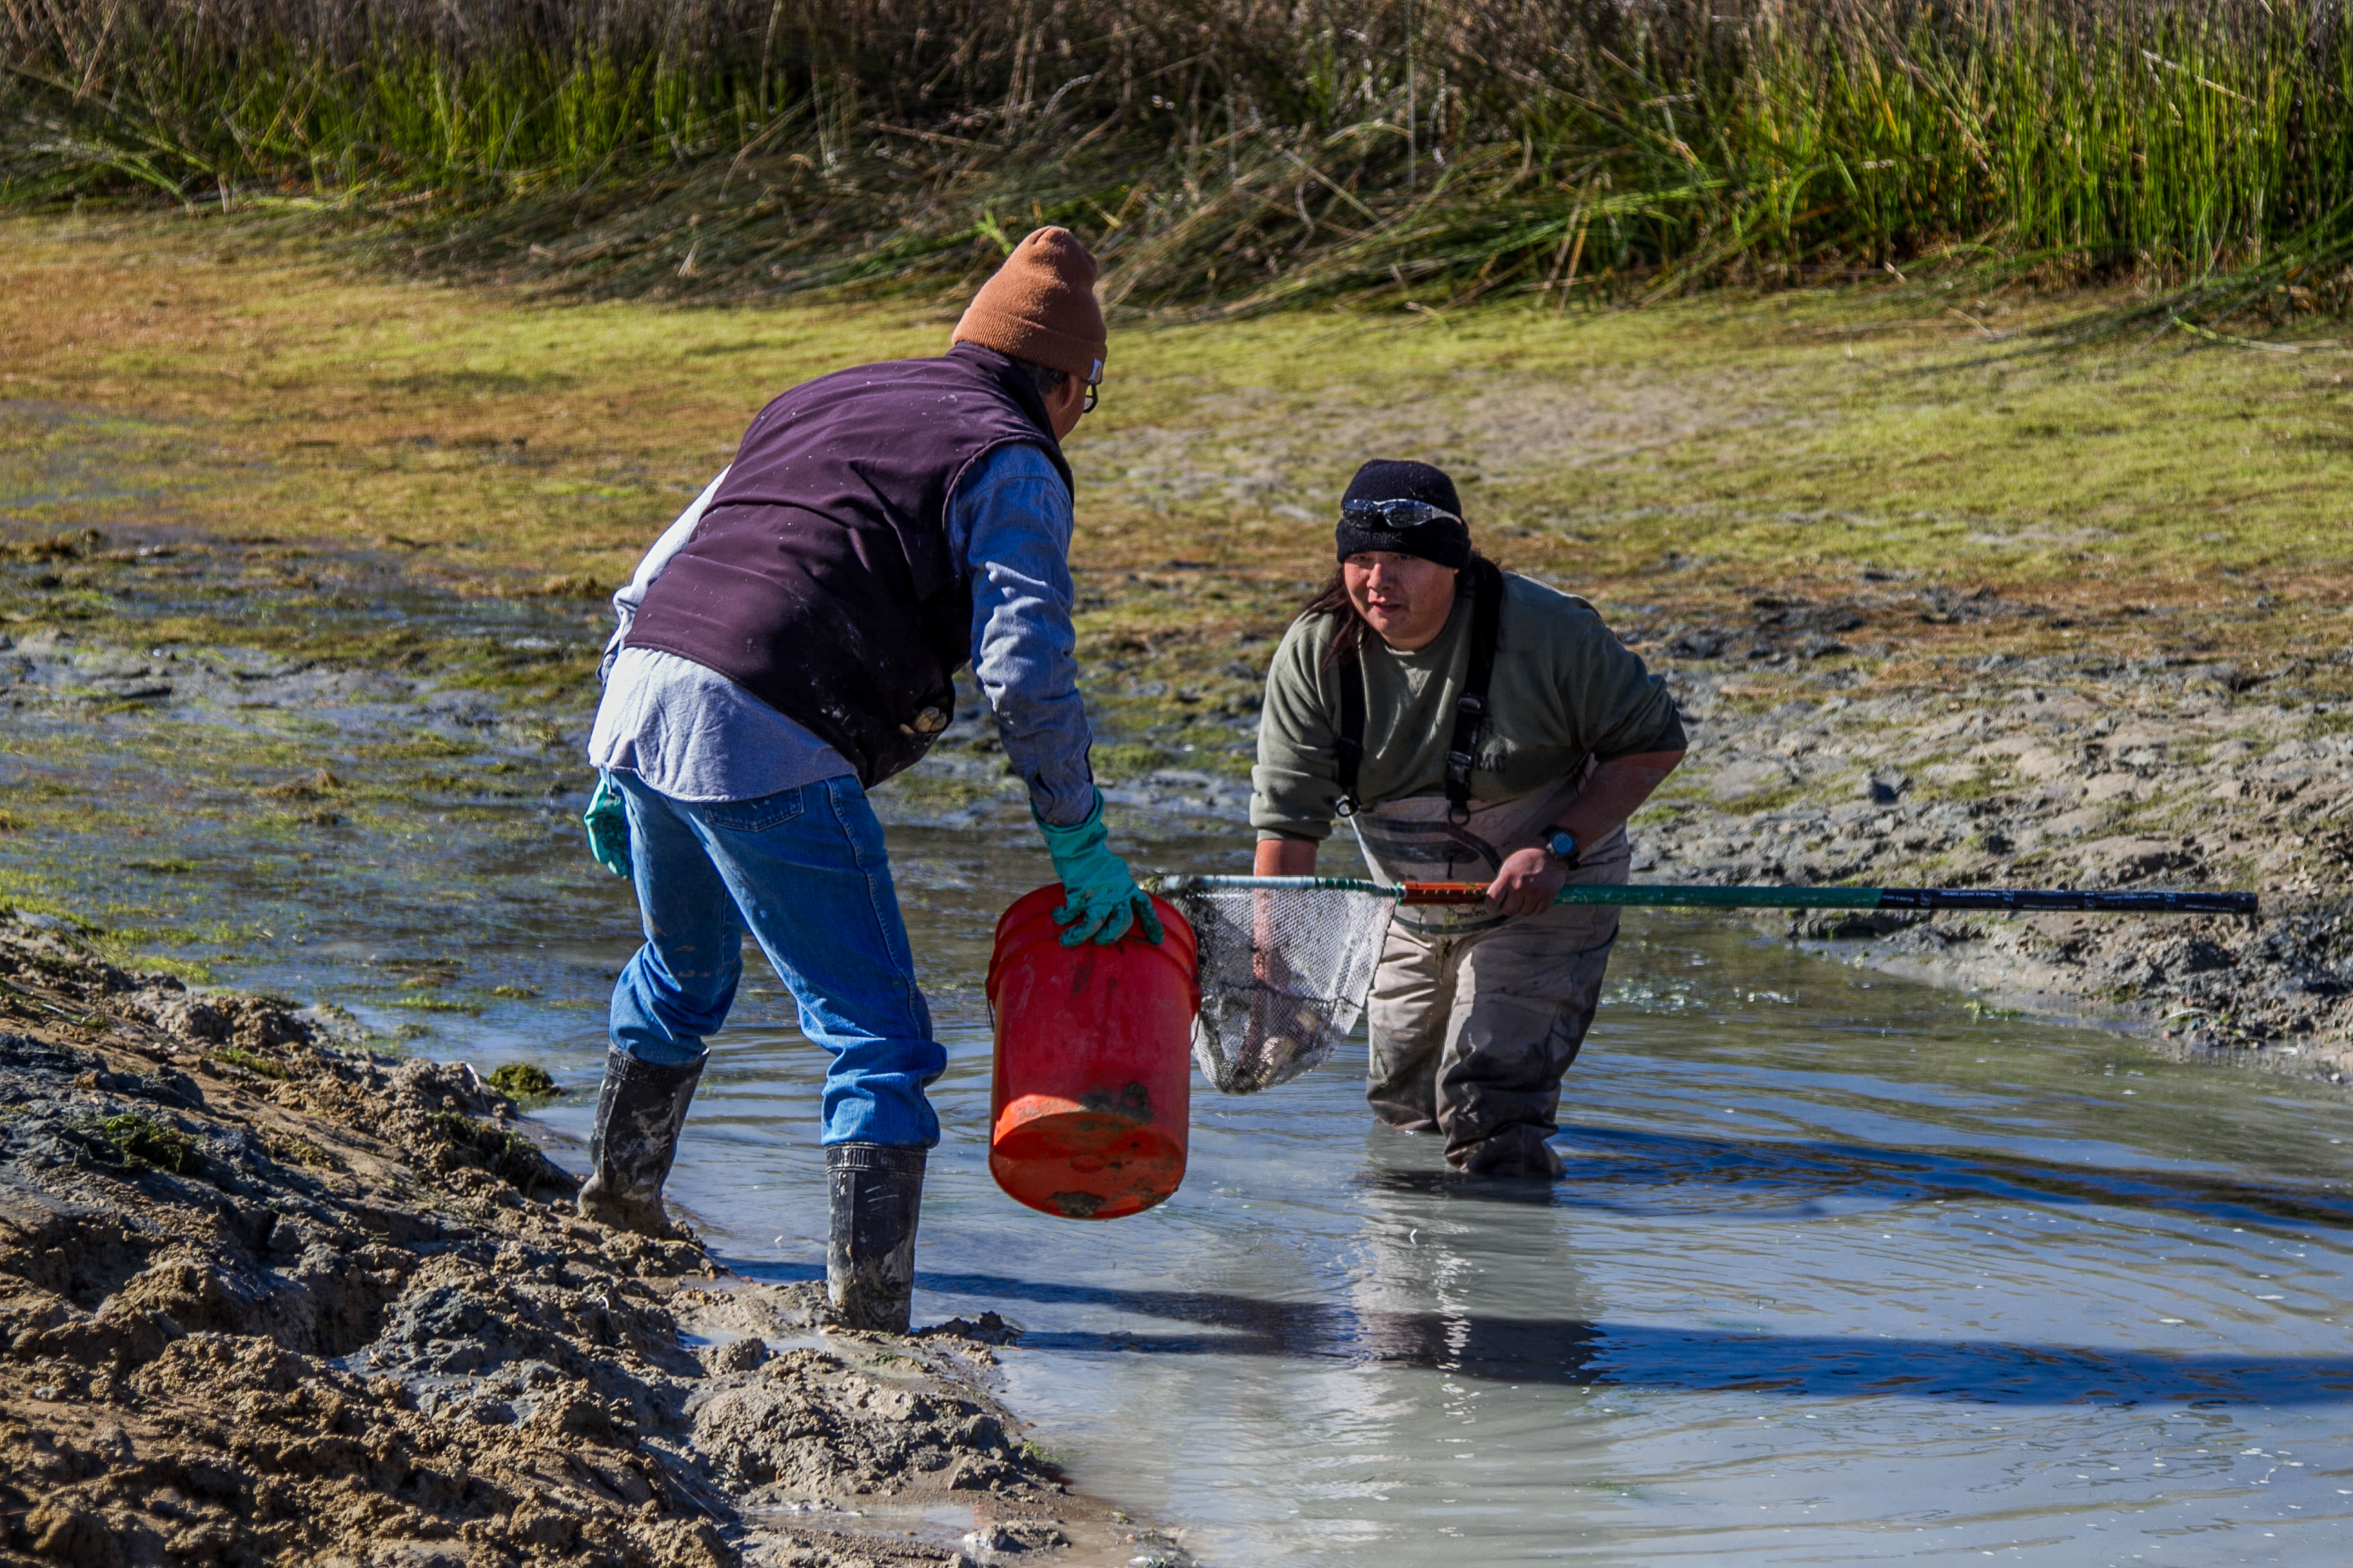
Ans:
[{"label": "dark purple vest over a light blue shirt", "polygon": [[1028,371],[972,343],[795,386],[751,421],[626,646],[718,670],[882,783],[955,712],[972,583],[948,498],[1014,442],[1071,484]]}]

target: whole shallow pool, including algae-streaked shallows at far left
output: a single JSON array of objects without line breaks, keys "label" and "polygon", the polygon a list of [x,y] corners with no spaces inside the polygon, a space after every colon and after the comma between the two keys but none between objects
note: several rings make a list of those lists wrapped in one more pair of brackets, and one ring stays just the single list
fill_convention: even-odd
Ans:
[{"label": "whole shallow pool, including algae-streaked shallows at far left", "polygon": [[[591,635],[482,614],[466,635]],[[635,912],[581,849],[576,715],[186,663],[169,703],[12,710],[9,875],[433,1056],[541,1060],[574,1088],[546,1124],[584,1135]],[[313,766],[346,780],[334,820],[275,795]],[[2339,1091],[1635,914],[1551,1201],[1449,1182],[1332,1065],[1245,1100],[1195,1081],[1176,1199],[1049,1220],[986,1175],[979,994],[1045,856],[979,820],[892,844],[951,1056],[918,1316],[1021,1324],[1035,1436],[1205,1563],[2353,1559]],[[744,1272],[821,1272],[819,1077],[755,964],[673,1180]]]}]

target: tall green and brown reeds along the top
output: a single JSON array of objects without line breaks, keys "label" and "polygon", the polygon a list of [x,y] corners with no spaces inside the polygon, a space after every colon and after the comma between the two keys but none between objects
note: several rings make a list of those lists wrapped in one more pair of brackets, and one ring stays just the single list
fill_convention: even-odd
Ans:
[{"label": "tall green and brown reeds along the top", "polygon": [[1129,306],[1993,268],[2247,327],[2341,303],[2353,240],[2318,0],[64,0],[0,56],[0,202],[332,212],[591,294],[951,287],[1052,219]]}]

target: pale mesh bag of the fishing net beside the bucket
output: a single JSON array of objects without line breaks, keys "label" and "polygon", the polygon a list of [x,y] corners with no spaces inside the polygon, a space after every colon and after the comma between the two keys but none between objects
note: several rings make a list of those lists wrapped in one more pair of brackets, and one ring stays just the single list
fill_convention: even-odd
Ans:
[{"label": "pale mesh bag of the fishing net beside the bucket", "polygon": [[1377,893],[1176,893],[1200,943],[1193,1058],[1231,1095],[1285,1084],[1348,1039],[1395,907]]}]

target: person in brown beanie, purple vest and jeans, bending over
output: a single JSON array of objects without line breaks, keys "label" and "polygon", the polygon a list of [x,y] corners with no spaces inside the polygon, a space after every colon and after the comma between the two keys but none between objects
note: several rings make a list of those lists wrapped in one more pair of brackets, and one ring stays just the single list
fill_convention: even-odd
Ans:
[{"label": "person in brown beanie, purple vest and jeans, bending over", "polygon": [[612,992],[581,1213],[671,1234],[661,1182],[746,931],[831,1053],[821,1098],[840,1324],[906,1333],[946,1053],[915,987],[866,790],[929,750],[974,663],[1068,903],[1064,943],[1148,900],[1104,844],[1071,661],[1061,440],[1104,374],[1094,259],[1028,235],[939,360],[866,364],[767,404],[734,463],[614,595],[588,759],[598,858],[645,947]]}]

